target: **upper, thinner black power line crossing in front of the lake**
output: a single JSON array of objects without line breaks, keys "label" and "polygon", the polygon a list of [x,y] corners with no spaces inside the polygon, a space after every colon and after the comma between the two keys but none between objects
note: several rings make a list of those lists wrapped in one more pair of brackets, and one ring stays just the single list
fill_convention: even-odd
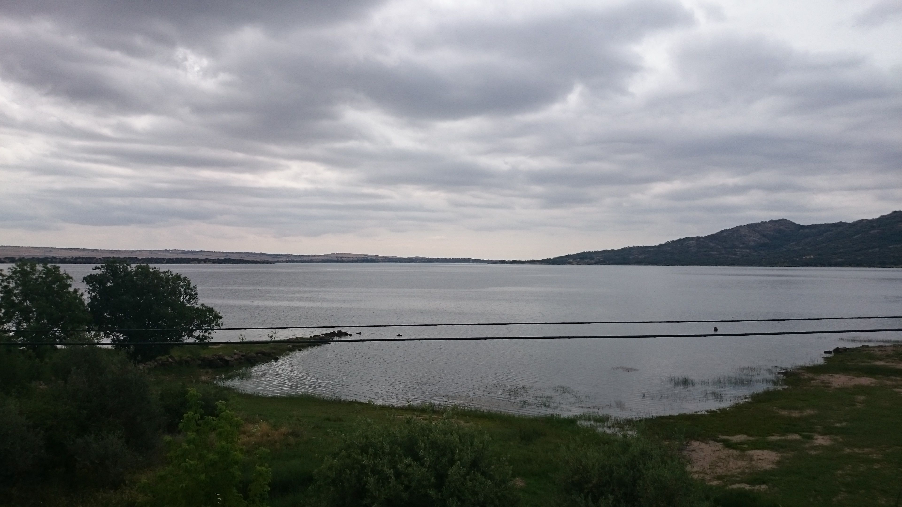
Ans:
[{"label": "upper, thinner black power line crossing in front of the lake", "polygon": [[[337,328],[362,328],[362,327],[455,327],[455,326],[562,326],[574,324],[716,324],[719,322],[790,322],[810,320],[862,320],[873,318],[902,318],[902,315],[884,315],[872,317],[806,317],[806,318],[723,318],[708,320],[586,320],[574,322],[467,322],[454,324],[356,324],[350,326],[276,326],[276,327],[160,327],[160,328],[136,328],[136,329],[19,329],[7,333],[124,333],[136,331],[265,331],[268,329],[337,329]],[[723,335],[722,335],[723,336]]]}]

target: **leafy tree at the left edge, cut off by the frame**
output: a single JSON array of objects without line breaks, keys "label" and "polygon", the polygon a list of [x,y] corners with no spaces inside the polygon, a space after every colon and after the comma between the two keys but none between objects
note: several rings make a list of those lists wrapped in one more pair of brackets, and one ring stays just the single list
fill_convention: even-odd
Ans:
[{"label": "leafy tree at the left edge, cut off by the frame", "polygon": [[[72,277],[55,264],[20,261],[0,270],[0,327],[19,342],[64,342],[75,338],[65,331],[86,329],[90,323],[85,300],[72,288]],[[52,329],[49,332],[29,332]]]}]

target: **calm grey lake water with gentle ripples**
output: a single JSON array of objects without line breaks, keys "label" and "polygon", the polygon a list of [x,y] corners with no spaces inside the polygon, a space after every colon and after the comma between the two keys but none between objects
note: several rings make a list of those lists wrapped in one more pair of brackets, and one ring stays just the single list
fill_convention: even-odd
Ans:
[{"label": "calm grey lake water with gentle ripples", "polygon": [[[91,266],[69,264],[80,280]],[[543,320],[801,318],[902,314],[902,270],[259,264],[161,266],[188,275],[226,327]],[[718,324],[720,332],[902,327],[900,319]],[[708,324],[363,329],[360,337],[706,333]],[[356,329],[354,331],[357,331]],[[219,332],[216,339],[235,339]],[[313,333],[283,332],[279,337]],[[263,339],[266,331],[245,332]],[[230,381],[270,395],[435,402],[620,417],[706,410],[766,388],[869,335],[329,344]],[[862,341],[864,340],[864,341]]]}]

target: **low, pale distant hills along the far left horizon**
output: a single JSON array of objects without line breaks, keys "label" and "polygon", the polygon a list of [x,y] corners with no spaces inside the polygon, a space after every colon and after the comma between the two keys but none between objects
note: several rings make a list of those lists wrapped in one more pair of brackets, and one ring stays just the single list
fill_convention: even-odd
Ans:
[{"label": "low, pale distant hills along the far left horizon", "polygon": [[102,263],[114,257],[132,263],[489,263],[485,259],[444,257],[390,257],[365,253],[293,253],[216,252],[209,250],[101,250],[97,248],[56,248],[50,246],[0,245],[0,263],[32,259],[42,263]]}]

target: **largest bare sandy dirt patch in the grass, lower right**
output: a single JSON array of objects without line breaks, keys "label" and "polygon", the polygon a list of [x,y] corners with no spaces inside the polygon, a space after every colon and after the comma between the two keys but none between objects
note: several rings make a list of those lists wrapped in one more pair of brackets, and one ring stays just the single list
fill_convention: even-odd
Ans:
[{"label": "largest bare sandy dirt patch in the grass, lower right", "polygon": [[777,466],[780,455],[774,451],[737,451],[719,442],[691,441],[686,445],[689,472],[708,484],[719,484],[718,477],[738,475]]}]

